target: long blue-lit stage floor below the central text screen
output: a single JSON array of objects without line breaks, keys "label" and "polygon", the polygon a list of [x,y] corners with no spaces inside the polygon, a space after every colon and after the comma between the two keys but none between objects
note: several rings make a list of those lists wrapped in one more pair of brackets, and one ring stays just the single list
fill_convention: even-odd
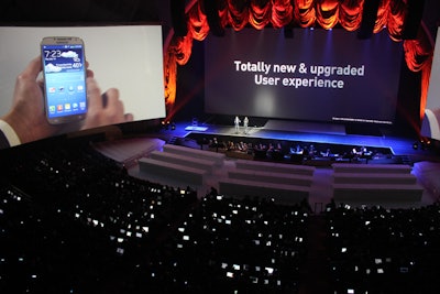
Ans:
[{"label": "long blue-lit stage floor below the central text screen", "polygon": [[[177,138],[190,138],[191,134],[206,137],[223,135],[235,139],[270,139],[285,142],[302,142],[305,144],[336,144],[349,146],[365,146],[367,149],[389,149],[394,155],[410,156],[413,161],[432,156],[429,150],[415,150],[417,138],[394,134],[387,126],[346,127],[340,123],[304,122],[288,120],[258,119],[257,124],[249,123],[248,132],[241,124],[235,132],[233,118],[229,124],[224,121],[200,122],[194,126],[190,121],[174,122],[175,129],[164,129],[162,132]],[[353,131],[353,129],[356,129]],[[294,144],[293,143],[293,144]]]}]

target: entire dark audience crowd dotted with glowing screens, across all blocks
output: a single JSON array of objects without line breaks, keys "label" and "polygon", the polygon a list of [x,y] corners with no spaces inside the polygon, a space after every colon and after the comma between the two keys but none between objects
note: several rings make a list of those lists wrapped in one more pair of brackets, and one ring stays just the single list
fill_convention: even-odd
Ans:
[{"label": "entire dark audience crowd dotted with glowing screens, across all blocks", "polygon": [[[314,233],[329,293],[440,291],[439,204],[315,215],[213,188],[198,199],[63,142],[1,153],[1,293],[301,293]],[[310,231],[317,218],[327,227]]]}]

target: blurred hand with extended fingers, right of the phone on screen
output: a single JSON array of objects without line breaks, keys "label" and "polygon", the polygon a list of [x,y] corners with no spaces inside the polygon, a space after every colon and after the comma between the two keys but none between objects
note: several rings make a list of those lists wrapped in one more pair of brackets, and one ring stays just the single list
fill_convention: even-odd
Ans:
[{"label": "blurred hand with extended fingers, right of the phone on screen", "polygon": [[87,78],[87,97],[89,109],[81,129],[133,121],[133,115],[124,113],[119,90],[110,88],[101,95],[101,89],[92,75]]}]

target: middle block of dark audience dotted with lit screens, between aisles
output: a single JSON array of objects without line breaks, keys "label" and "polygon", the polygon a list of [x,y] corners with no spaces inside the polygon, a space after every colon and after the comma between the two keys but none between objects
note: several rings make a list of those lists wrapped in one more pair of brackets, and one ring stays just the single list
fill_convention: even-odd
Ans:
[{"label": "middle block of dark audience dotted with lit screens, between aisles", "polygon": [[148,284],[154,293],[298,293],[307,220],[300,205],[207,195],[151,262]]}]

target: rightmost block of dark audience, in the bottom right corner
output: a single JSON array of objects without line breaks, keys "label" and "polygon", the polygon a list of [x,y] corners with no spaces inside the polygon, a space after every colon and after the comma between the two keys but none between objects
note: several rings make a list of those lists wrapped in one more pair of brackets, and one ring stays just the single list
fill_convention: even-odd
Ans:
[{"label": "rightmost block of dark audience, in the bottom right corner", "polygon": [[440,205],[329,207],[332,293],[440,293]]}]

